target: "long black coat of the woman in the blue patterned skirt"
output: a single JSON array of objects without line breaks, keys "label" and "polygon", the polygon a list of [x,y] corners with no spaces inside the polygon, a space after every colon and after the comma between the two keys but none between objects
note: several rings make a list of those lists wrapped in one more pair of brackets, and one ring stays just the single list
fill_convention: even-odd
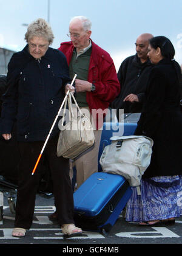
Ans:
[{"label": "long black coat of the woman in the blue patterned skirt", "polygon": [[153,139],[152,159],[143,178],[182,175],[180,74],[178,63],[166,59],[150,72],[144,110],[135,131]]}]

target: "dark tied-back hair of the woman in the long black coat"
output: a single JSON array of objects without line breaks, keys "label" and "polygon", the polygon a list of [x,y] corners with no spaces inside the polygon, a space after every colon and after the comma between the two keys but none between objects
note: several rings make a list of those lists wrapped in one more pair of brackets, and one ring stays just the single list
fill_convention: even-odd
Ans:
[{"label": "dark tied-back hair of the woman in the long black coat", "polygon": [[175,55],[175,49],[171,41],[166,36],[155,36],[149,40],[150,46],[161,49],[161,55],[168,60],[172,60]]}]

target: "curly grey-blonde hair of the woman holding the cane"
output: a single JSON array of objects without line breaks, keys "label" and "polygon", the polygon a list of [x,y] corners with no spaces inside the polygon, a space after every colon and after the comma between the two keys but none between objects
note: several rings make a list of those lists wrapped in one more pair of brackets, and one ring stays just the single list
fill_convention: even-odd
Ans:
[{"label": "curly grey-blonde hair of the woman holding the cane", "polygon": [[33,36],[42,36],[49,41],[49,44],[52,44],[53,39],[55,38],[51,27],[45,19],[42,18],[33,21],[27,28],[27,32],[25,33],[25,40],[27,43]]}]

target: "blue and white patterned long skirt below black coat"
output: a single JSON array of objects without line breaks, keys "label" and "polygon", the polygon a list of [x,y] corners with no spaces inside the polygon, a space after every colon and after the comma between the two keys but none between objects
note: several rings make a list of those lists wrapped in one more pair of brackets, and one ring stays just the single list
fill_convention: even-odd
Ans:
[{"label": "blue and white patterned long skirt below black coat", "polygon": [[182,214],[182,176],[160,176],[141,180],[141,195],[132,187],[126,221],[166,220]]}]

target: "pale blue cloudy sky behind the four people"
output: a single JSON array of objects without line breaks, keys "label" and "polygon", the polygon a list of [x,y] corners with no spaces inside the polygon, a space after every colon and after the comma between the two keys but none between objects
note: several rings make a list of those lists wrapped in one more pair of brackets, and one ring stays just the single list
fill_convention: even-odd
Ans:
[{"label": "pale blue cloudy sky behind the four people", "polygon": [[58,48],[69,41],[69,21],[83,15],[92,21],[92,40],[109,52],[118,71],[135,54],[141,33],[169,38],[175,60],[182,64],[182,0],[0,0],[0,47],[22,50],[27,26],[38,18],[49,21]]}]

